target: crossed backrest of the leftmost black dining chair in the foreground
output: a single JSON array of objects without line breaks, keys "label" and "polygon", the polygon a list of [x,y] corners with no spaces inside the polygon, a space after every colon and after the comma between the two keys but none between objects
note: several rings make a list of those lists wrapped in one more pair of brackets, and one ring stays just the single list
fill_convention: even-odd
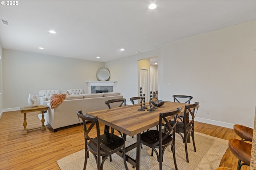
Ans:
[{"label": "crossed backrest of the leftmost black dining chair in the foreground", "polygon": [[[83,115],[82,110],[76,111],[76,115],[78,116],[78,119],[82,119],[83,124],[81,123],[80,119],[80,125],[82,126],[84,130],[84,142],[85,142],[85,147],[87,148],[87,143],[90,141],[97,147],[97,154],[100,155],[100,126],[99,126],[99,121],[98,117],[91,117],[87,115]],[[86,126],[86,121],[92,122],[90,126],[87,128]],[[96,133],[97,133],[97,140],[93,140],[94,138],[91,138],[89,136],[90,131],[93,129],[93,127],[96,126]],[[94,128],[95,129],[95,128]],[[95,134],[95,133],[94,133]]]}]

